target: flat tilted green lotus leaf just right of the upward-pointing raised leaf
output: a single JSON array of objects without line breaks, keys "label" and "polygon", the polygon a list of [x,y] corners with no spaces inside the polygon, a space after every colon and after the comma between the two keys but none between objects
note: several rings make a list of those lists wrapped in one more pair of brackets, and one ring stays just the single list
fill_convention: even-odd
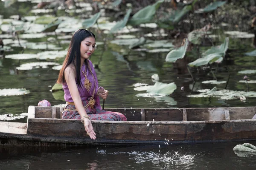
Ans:
[{"label": "flat tilted green lotus leaf just right of the upward-pointing raised leaf", "polygon": [[193,62],[190,62],[188,65],[191,67],[199,67],[201,65],[207,65],[208,63],[211,64],[212,62],[215,62],[216,60],[222,58],[221,54],[215,53],[215,54],[209,54],[203,58],[199,58]]}]

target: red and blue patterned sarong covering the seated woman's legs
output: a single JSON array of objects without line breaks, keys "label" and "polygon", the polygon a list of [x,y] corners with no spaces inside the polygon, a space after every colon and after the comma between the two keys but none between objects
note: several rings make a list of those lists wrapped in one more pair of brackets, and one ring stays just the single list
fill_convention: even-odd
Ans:
[{"label": "red and blue patterned sarong covering the seated woman's legs", "polygon": [[[89,102],[88,100],[82,101],[83,105],[86,106]],[[76,109],[75,105],[66,104],[65,109]],[[90,108],[90,106],[85,109],[87,115],[90,117],[91,120],[108,120],[108,121],[127,121],[125,115],[118,112],[111,112],[111,111],[104,111],[101,109]],[[62,119],[81,119],[78,111],[66,111],[62,112]]]}]

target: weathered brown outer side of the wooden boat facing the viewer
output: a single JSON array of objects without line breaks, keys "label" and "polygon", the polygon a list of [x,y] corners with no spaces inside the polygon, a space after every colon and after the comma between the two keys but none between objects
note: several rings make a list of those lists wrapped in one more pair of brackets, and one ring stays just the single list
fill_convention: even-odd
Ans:
[{"label": "weathered brown outer side of the wooden boat facing the viewer", "polygon": [[[79,120],[29,119],[28,136],[105,143],[154,143],[156,141],[216,141],[256,139],[256,120],[195,122],[92,121],[97,139],[92,141]],[[149,124],[149,125],[148,125]]]}]

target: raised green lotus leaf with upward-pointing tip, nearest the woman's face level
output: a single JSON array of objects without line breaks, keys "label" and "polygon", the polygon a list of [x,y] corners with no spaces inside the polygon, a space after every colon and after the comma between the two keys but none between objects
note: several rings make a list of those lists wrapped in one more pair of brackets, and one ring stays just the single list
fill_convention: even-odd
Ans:
[{"label": "raised green lotus leaf with upward-pointing tip, nearest the woman's face level", "polygon": [[185,44],[183,46],[181,46],[180,48],[174,49],[167,54],[166,62],[176,62],[177,59],[182,59],[186,54],[188,45],[189,45],[189,41],[188,39],[186,39]]}]

